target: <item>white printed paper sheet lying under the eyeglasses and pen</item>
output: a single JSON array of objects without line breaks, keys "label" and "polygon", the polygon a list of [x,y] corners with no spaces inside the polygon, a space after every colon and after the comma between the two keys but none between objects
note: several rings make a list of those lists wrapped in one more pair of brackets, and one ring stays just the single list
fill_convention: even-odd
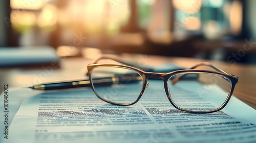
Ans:
[{"label": "white printed paper sheet lying under the eyeglasses and pen", "polygon": [[169,103],[159,80],[131,106],[101,101],[91,88],[30,94],[1,142],[256,142],[256,110],[236,97],[218,112],[186,113]]}]

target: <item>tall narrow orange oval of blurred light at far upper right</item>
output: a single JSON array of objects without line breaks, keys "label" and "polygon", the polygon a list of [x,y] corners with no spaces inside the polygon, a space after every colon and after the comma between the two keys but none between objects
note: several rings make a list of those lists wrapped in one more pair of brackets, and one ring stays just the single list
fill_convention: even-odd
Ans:
[{"label": "tall narrow orange oval of blurred light at far upper right", "polygon": [[233,1],[230,9],[231,33],[238,35],[241,32],[243,20],[243,8],[239,1]]}]

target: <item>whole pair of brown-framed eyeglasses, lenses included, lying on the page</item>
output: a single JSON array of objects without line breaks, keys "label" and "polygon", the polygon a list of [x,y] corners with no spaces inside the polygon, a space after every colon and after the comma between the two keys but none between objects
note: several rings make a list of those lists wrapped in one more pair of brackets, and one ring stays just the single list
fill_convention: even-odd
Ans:
[{"label": "whole pair of brown-framed eyeglasses, lenses included, lying on the page", "polygon": [[[175,108],[189,113],[216,112],[227,105],[238,82],[237,76],[206,62],[164,74],[129,65],[97,64],[99,60],[87,66],[92,89],[99,99],[121,106],[137,103],[150,84],[148,79],[160,79],[170,104]],[[195,69],[199,66],[217,71]]]}]

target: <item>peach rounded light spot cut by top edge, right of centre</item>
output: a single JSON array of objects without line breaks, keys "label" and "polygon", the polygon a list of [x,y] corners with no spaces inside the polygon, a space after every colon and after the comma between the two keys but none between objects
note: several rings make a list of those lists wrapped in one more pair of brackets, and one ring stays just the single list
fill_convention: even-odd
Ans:
[{"label": "peach rounded light spot cut by top edge, right of centre", "polygon": [[194,14],[197,13],[202,5],[201,0],[173,0],[174,7],[180,9],[185,13]]}]

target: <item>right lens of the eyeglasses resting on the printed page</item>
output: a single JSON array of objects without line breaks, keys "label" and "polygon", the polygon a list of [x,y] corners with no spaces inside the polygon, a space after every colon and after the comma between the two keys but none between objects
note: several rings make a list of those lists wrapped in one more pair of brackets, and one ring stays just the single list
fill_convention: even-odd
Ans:
[{"label": "right lens of the eyeglasses resting on the printed page", "polygon": [[[179,79],[172,83],[173,79]],[[178,74],[168,81],[170,97],[178,107],[190,111],[210,111],[226,101],[231,81],[209,73]],[[212,92],[212,91],[218,92]]]}]

